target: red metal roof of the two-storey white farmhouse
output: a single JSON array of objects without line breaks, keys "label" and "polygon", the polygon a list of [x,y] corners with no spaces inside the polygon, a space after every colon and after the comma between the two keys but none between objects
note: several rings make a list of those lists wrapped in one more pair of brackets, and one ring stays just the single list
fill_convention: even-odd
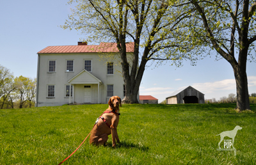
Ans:
[{"label": "red metal roof of the two-storey white farmhouse", "polygon": [[[126,52],[133,52],[134,42],[126,43]],[[118,52],[116,43],[100,42],[100,45],[67,45],[45,47],[38,54],[45,53],[76,53],[76,52]]]}]

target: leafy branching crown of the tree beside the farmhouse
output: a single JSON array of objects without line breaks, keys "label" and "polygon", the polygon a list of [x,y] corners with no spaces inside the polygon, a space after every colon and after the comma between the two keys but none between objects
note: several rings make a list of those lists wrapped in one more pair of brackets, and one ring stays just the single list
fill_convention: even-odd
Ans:
[{"label": "leafy branching crown of the tree beside the farmhouse", "polygon": [[[191,40],[184,40],[180,35],[180,31],[190,27],[184,27],[183,23],[189,19],[193,9],[177,10],[172,7],[173,2],[70,0],[68,4],[75,6],[75,9],[61,28],[81,31],[88,42],[120,44],[123,38],[125,42],[135,42],[134,48],[140,47],[141,59],[172,59],[180,66],[182,59],[191,59],[186,52],[200,49],[191,44],[188,47]],[[120,35],[123,35],[122,38]],[[134,54],[138,51],[135,49]]]}]

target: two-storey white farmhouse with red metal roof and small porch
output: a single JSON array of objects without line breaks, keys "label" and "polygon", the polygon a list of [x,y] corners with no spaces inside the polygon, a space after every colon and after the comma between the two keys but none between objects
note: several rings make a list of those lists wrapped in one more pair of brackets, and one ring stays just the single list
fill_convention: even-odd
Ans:
[{"label": "two-storey white farmhouse with red metal roof and small porch", "polygon": [[[132,56],[134,43],[127,43]],[[116,43],[49,46],[38,52],[36,106],[106,104],[125,97]]]}]

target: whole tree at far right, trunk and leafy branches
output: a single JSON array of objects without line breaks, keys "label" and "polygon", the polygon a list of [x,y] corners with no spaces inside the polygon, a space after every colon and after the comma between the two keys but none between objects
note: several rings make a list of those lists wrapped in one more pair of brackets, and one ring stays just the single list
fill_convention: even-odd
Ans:
[{"label": "whole tree at far right, trunk and leafy branches", "polygon": [[184,25],[191,27],[184,33],[187,40],[191,40],[192,44],[196,41],[204,51],[215,50],[218,56],[230,63],[236,79],[237,109],[250,109],[246,63],[249,57],[254,59],[256,2],[184,0],[177,1],[175,6],[196,9],[196,12],[191,10],[191,18]]}]

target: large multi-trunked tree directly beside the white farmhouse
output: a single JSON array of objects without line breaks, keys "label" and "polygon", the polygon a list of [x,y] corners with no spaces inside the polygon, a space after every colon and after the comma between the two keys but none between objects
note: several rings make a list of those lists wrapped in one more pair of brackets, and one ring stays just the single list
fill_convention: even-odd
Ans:
[{"label": "large multi-trunked tree directly beside the white farmhouse", "polygon": [[[138,103],[137,95],[148,61],[172,59],[180,65],[185,58],[179,47],[191,50],[186,42],[175,42],[178,24],[189,17],[189,10],[175,10],[172,1],[153,0],[70,0],[78,3],[68,16],[64,29],[81,30],[86,42],[115,42],[125,83],[125,103]],[[127,59],[127,42],[134,42],[131,63]],[[195,46],[192,46],[195,50]],[[140,51],[141,49],[141,51]],[[140,54],[141,52],[141,54]],[[172,55],[172,56],[171,56]],[[157,62],[158,63],[158,62]]]}]

